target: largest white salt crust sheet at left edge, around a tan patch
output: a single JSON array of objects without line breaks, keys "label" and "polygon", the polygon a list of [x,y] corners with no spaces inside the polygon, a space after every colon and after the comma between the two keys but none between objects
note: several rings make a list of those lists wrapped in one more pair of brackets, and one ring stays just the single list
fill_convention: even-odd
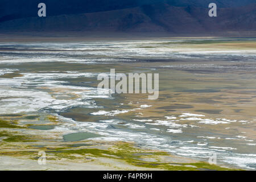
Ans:
[{"label": "largest white salt crust sheet at left edge, around a tan patch", "polygon": [[[90,98],[110,98],[106,89],[63,85],[57,78],[93,77],[94,73],[22,73],[22,77],[0,79],[1,114],[30,111],[61,111],[91,105]],[[24,88],[29,88],[24,90]],[[44,91],[45,90],[45,91]],[[51,91],[53,90],[53,91]],[[63,99],[65,97],[65,99]]]}]

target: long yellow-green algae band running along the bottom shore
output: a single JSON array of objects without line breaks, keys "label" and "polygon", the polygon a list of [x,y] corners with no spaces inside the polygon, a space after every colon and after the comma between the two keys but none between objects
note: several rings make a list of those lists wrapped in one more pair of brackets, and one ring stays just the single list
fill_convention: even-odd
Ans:
[{"label": "long yellow-green algae band running along the bottom shore", "polygon": [[[0,133],[1,137],[1,133]],[[15,138],[16,137],[16,138]],[[20,140],[29,140],[26,136],[13,136],[9,137],[7,140],[9,142],[20,142]],[[17,138],[19,137],[19,138]],[[41,147],[41,146],[40,146]],[[42,146],[43,147],[43,146]],[[75,147],[75,146],[73,146]],[[220,167],[217,165],[211,165],[206,162],[197,162],[197,163],[170,163],[160,160],[159,156],[170,156],[167,152],[159,151],[147,151],[141,148],[134,147],[130,143],[114,143],[113,146],[109,147],[106,150],[100,148],[84,148],[92,147],[87,146],[86,144],[79,143],[77,147],[83,148],[73,148],[73,147],[59,147],[59,148],[45,148],[47,154],[47,160],[60,160],[60,159],[69,159],[72,162],[88,162],[91,160],[97,160],[97,158],[106,158],[123,161],[131,166],[143,167],[154,170],[166,170],[166,171],[226,171],[226,170],[238,170]],[[98,146],[99,147],[99,146]],[[28,149],[28,148],[27,148]],[[42,150],[42,148],[40,148]],[[27,156],[29,159],[37,160],[38,151],[10,151],[10,152],[1,152],[0,155],[9,155],[9,156]],[[156,162],[145,162],[142,160],[143,157],[159,159]],[[93,158],[93,159],[92,159]],[[170,158],[175,158],[175,156],[170,156]],[[90,159],[90,160],[89,160]]]}]

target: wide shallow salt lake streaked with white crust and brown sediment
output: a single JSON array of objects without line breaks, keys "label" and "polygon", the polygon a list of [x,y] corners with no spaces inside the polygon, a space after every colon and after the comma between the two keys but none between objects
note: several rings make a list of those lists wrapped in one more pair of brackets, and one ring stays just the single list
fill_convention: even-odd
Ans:
[{"label": "wide shallow salt lake streaked with white crust and brown sediment", "polygon": [[[203,160],[216,152],[218,163],[256,169],[253,46],[254,39],[2,42],[0,118],[68,141],[133,141]],[[97,75],[110,68],[159,73],[159,99],[97,90]],[[46,114],[63,124],[41,127]]]}]

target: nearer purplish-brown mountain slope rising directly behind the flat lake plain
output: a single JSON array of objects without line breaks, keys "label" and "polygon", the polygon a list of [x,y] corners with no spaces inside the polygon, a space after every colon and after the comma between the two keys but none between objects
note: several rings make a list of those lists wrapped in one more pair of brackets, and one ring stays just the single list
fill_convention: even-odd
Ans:
[{"label": "nearer purplish-brown mountain slope rising directly behind the flat lake plain", "polygon": [[217,17],[208,8],[142,5],[97,13],[67,14],[14,19],[0,23],[0,31],[100,31],[168,32],[200,34],[226,31],[256,31],[256,4],[218,8]]}]

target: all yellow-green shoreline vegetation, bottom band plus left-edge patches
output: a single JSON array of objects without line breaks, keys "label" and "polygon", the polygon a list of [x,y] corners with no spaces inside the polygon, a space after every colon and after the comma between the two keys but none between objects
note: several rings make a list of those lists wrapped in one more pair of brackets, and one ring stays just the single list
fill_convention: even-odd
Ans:
[{"label": "all yellow-green shoreline vegetation, bottom band plus left-edge patches", "polygon": [[[55,117],[48,117],[56,122]],[[31,126],[31,125],[29,125]],[[154,170],[240,170],[227,167],[220,167],[206,162],[176,163],[166,161],[167,158],[174,158],[167,152],[143,150],[135,147],[133,143],[114,142],[102,149],[101,144],[88,144],[88,140],[78,142],[61,142],[55,147],[35,147],[35,142],[45,140],[22,134],[19,130],[33,130],[24,126],[18,126],[17,122],[0,119],[0,155],[13,156],[15,158],[38,160],[38,151],[46,151],[47,160],[71,160],[72,162],[88,162],[98,158],[119,160],[135,167],[143,167]],[[15,131],[11,131],[15,130]],[[11,132],[10,132],[11,131]],[[30,142],[33,142],[31,145]],[[89,141],[90,142],[90,141]],[[6,150],[14,147],[16,150]],[[73,146],[72,146],[73,145]],[[165,158],[165,159],[163,159]]]}]

